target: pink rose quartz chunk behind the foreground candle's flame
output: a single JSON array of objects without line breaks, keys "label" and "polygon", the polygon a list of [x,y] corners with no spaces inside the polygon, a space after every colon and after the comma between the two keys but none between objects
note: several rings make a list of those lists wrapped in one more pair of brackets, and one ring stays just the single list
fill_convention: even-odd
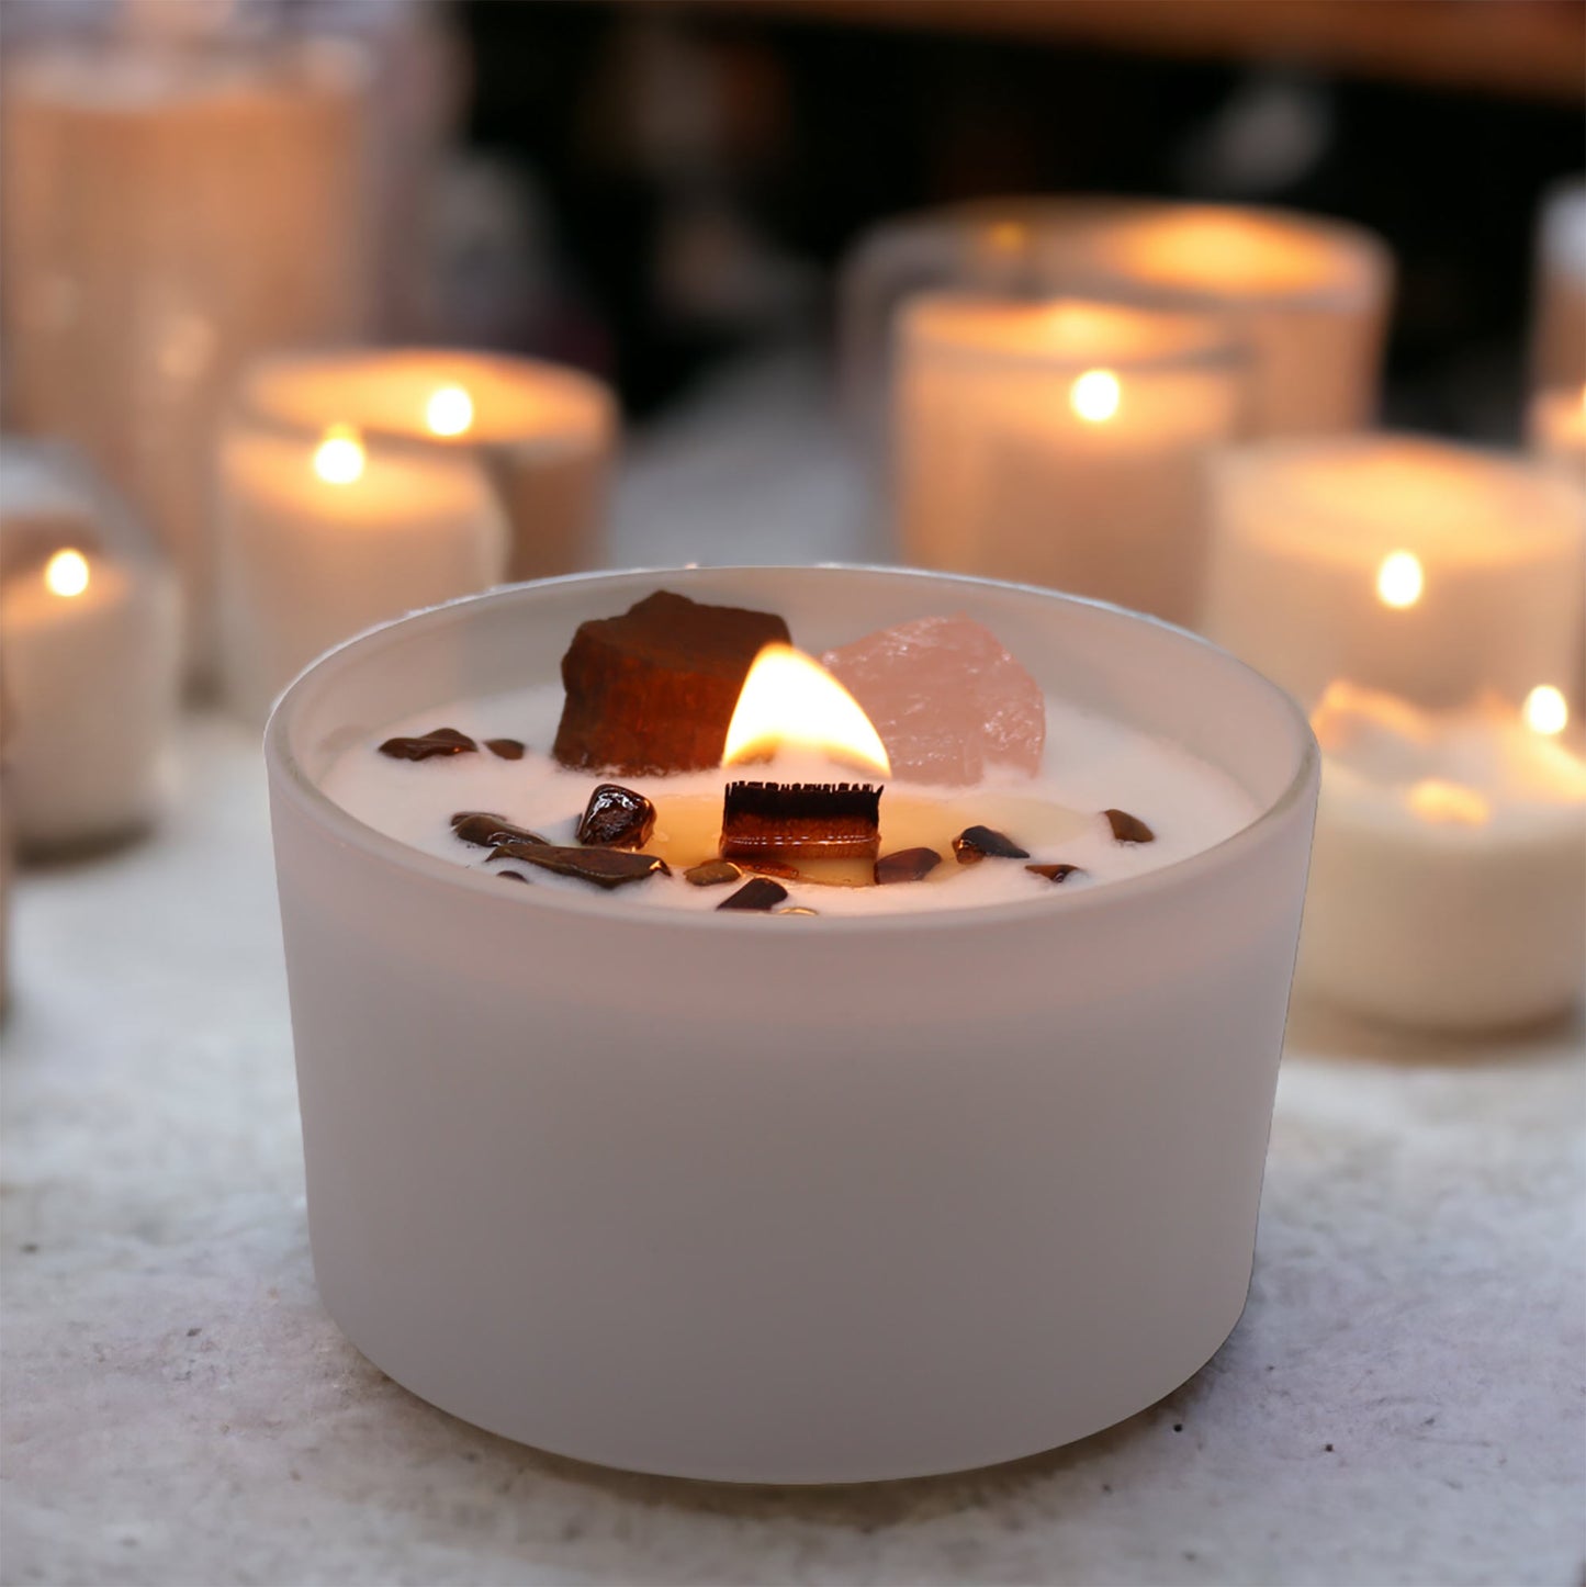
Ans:
[{"label": "pink rose quartz chunk behind the foreground candle's flame", "polygon": [[962,786],[987,765],[1040,770],[1041,687],[978,622],[918,617],[821,660],[875,724],[895,778]]}]

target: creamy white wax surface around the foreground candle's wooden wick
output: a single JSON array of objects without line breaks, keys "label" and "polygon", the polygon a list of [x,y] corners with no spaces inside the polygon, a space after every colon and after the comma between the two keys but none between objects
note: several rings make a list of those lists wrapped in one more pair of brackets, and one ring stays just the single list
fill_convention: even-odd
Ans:
[{"label": "creamy white wax surface around the foreground candle's wooden wick", "polygon": [[[562,709],[559,686],[538,686],[484,700],[457,700],[414,717],[391,722],[351,744],[325,778],[325,792],[376,832],[459,865],[527,871],[537,884],[591,892],[587,882],[557,878],[530,865],[489,862],[489,851],[452,835],[456,811],[489,811],[540,833],[551,843],[575,841],[578,817],[591,790],[618,781],[656,805],[656,832],[645,844],[675,870],[716,857],[722,790],[729,781],[854,781],[841,767],[789,763],[733,767],[667,778],[606,779],[556,765],[545,747],[556,735]],[[456,727],[481,746],[489,738],[518,738],[530,749],[522,760],[478,754],[402,762],[379,754],[386,738],[418,736]],[[818,914],[903,914],[970,905],[1007,903],[1080,893],[1099,882],[1172,865],[1210,847],[1254,814],[1249,797],[1227,776],[1172,744],[1151,740],[1062,701],[1048,701],[1048,743],[1061,746],[1054,768],[1038,778],[994,771],[972,789],[935,789],[900,779],[883,782],[881,852],[932,847],[941,863],[918,884],[853,886],[868,878],[865,862],[794,862],[830,881],[784,881],[787,906]],[[533,746],[541,746],[537,752]],[[1127,809],[1156,833],[1154,841],[1114,841],[1103,809]],[[1065,862],[1081,876],[1054,884],[1026,871],[1022,860],[986,859],[960,865],[951,840],[970,825],[1005,832],[1029,849],[1029,863]],[[681,874],[651,878],[613,895],[613,906],[645,909],[714,909],[730,887],[695,887]]]}]

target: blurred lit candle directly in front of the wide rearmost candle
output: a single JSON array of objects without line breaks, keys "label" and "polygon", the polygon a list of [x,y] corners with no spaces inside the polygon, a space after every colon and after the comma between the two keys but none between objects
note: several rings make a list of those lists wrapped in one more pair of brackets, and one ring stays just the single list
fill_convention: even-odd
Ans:
[{"label": "blurred lit candle directly in front of the wide rearmost candle", "polygon": [[1235,435],[1245,397],[1215,321],[921,297],[899,324],[895,394],[910,562],[1194,616],[1202,462]]}]

